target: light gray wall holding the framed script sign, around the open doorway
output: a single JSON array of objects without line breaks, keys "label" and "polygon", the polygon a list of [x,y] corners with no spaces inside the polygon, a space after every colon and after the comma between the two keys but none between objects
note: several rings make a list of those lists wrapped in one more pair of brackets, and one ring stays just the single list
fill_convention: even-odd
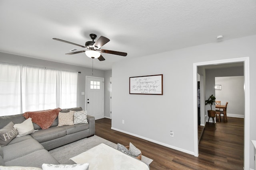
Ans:
[{"label": "light gray wall holding the framed script sign, around the open doorway", "polygon": [[[112,129],[194,154],[193,63],[250,57],[250,140],[256,139],[256,35],[120,61],[112,68]],[[163,74],[164,95],[129,94],[129,77]],[[207,94],[206,94],[207,96]],[[122,124],[122,120],[125,124]],[[170,137],[170,130],[174,137]],[[249,133],[249,132],[247,132]],[[250,145],[250,167],[253,147]]]}]

